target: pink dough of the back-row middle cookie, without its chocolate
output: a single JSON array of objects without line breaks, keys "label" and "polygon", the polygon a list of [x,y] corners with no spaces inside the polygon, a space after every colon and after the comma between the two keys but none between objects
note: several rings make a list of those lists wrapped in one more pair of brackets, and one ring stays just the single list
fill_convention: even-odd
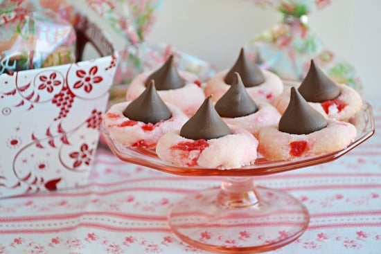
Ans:
[{"label": "pink dough of the back-row middle cookie, without its chocolate", "polygon": [[[224,82],[224,77],[229,70],[220,71],[208,82],[204,88],[205,96],[212,96],[213,102],[217,102],[230,88]],[[283,92],[283,82],[281,78],[270,71],[263,71],[265,82],[255,87],[247,87],[246,91],[255,102],[267,102],[272,104],[274,100]]]}]

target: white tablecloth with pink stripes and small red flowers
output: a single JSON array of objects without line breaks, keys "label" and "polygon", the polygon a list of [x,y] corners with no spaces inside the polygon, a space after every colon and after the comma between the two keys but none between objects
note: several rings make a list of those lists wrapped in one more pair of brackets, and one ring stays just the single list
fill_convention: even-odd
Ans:
[{"label": "white tablecloth with pink stripes and small red flowers", "polygon": [[[381,253],[381,102],[371,105],[375,134],[348,154],[255,178],[300,199],[311,215],[299,239],[269,253]],[[220,181],[124,163],[99,147],[86,186],[0,199],[0,253],[207,253],[172,235],[166,215]]]}]

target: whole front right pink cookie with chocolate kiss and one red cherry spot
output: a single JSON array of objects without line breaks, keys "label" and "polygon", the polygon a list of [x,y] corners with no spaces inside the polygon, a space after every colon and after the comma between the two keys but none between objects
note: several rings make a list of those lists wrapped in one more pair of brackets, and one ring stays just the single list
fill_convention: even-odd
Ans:
[{"label": "whole front right pink cookie with chocolate kiss and one red cherry spot", "polygon": [[351,123],[326,119],[292,87],[278,125],[260,130],[258,152],[271,161],[328,154],[350,145],[356,131]]}]

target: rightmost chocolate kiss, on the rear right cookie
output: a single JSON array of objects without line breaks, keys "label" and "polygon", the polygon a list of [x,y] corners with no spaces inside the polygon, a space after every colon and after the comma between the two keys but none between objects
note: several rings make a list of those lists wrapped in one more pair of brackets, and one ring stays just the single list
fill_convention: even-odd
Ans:
[{"label": "rightmost chocolate kiss, on the rear right cookie", "polygon": [[313,60],[298,91],[308,102],[333,100],[340,94],[337,84],[330,80],[318,66],[315,66]]}]

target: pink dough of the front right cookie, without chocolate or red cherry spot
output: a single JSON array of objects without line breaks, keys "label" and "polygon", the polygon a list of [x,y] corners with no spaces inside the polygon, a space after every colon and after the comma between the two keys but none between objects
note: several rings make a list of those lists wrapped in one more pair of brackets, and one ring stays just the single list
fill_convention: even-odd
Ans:
[{"label": "pink dough of the front right cookie, without chocolate or red cherry spot", "polygon": [[278,130],[277,125],[260,130],[258,152],[267,160],[280,161],[299,158],[290,153],[290,143],[304,140],[308,148],[300,157],[336,152],[346,148],[356,136],[356,127],[351,123],[328,119],[324,129],[306,135],[288,134]]}]

